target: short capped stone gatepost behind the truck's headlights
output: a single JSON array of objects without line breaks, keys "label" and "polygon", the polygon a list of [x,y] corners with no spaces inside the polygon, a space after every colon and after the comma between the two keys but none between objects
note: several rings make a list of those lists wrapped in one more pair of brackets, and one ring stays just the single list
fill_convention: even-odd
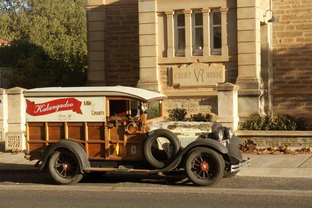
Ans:
[{"label": "short capped stone gatepost behind the truck's headlights", "polygon": [[232,127],[233,131],[238,128],[238,85],[223,83],[216,86],[218,91],[218,121],[223,126]]}]

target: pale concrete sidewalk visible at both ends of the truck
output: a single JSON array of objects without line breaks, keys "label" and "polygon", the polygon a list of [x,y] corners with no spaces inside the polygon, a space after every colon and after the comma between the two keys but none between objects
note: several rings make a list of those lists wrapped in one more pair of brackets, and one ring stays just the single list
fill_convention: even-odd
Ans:
[{"label": "pale concrete sidewalk visible at both ends of the truck", "polygon": [[[243,155],[251,157],[251,166],[237,176],[251,177],[303,177],[312,178],[312,154],[298,155]],[[0,172],[37,171],[37,161],[24,159],[24,154],[0,152]]]}]

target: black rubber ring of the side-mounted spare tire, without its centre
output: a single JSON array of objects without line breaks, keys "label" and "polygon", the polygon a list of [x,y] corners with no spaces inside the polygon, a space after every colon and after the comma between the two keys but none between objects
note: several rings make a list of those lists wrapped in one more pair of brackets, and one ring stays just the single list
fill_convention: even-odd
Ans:
[{"label": "black rubber ring of the side-mounted spare tire, without its centre", "polygon": [[[170,142],[172,146],[172,155],[169,158],[169,160],[157,160],[153,156],[153,153],[151,151],[152,145],[157,140],[157,138],[160,138],[160,137],[168,139],[168,141]],[[143,145],[143,153],[144,153],[145,160],[149,163],[150,166],[156,169],[161,169],[165,167],[166,165],[170,164],[174,159],[173,156],[177,154],[180,150],[181,150],[180,140],[173,132],[167,129],[154,130],[154,133],[150,135],[147,139],[145,139],[144,145]],[[179,162],[180,161],[178,161],[178,163]]]}]

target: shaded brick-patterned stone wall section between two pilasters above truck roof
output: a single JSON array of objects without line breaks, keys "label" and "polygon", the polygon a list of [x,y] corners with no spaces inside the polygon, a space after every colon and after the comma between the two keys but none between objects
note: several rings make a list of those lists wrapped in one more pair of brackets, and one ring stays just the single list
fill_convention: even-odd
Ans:
[{"label": "shaded brick-patterned stone wall section between two pilasters above truck roof", "polygon": [[106,8],[106,85],[136,87],[139,80],[138,6]]}]

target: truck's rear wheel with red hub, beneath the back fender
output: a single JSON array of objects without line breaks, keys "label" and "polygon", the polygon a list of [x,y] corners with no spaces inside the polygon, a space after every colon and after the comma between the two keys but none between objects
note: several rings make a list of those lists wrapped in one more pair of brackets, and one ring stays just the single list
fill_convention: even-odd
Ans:
[{"label": "truck's rear wheel with red hub, beneath the back fender", "polygon": [[55,151],[49,160],[49,172],[59,185],[72,185],[82,179],[78,158],[69,150]]}]

